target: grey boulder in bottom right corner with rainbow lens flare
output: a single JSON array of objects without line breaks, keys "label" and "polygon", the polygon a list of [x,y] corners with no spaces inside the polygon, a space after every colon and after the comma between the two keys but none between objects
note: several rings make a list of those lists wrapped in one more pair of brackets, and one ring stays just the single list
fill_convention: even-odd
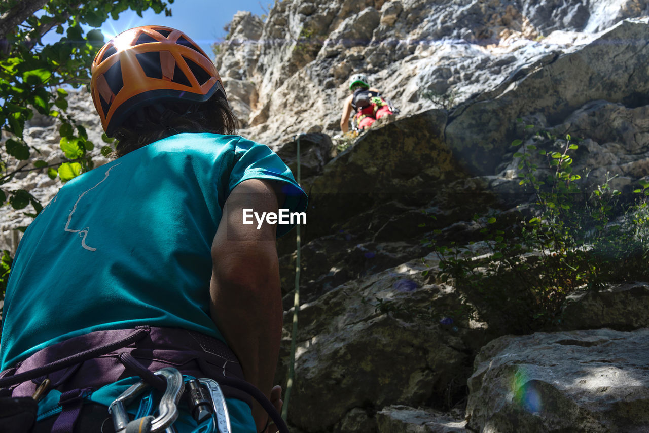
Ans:
[{"label": "grey boulder in bottom right corner with rainbow lens flare", "polygon": [[644,432],[647,350],[648,328],[495,339],[474,361],[467,426],[499,433]]}]

